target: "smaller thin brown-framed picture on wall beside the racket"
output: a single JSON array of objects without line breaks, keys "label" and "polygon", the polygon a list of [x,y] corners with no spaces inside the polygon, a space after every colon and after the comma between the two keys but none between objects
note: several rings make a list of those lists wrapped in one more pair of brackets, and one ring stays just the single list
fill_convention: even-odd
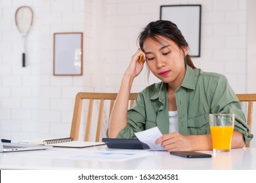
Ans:
[{"label": "smaller thin brown-framed picture on wall beside the racket", "polygon": [[83,75],[83,33],[54,33],[53,75]]}]

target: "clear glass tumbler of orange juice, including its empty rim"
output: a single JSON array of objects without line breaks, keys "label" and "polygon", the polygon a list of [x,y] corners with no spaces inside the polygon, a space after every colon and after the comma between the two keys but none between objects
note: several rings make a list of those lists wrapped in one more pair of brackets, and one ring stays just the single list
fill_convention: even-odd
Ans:
[{"label": "clear glass tumbler of orange juice, including its empty rim", "polygon": [[213,152],[230,152],[234,114],[209,114]]}]

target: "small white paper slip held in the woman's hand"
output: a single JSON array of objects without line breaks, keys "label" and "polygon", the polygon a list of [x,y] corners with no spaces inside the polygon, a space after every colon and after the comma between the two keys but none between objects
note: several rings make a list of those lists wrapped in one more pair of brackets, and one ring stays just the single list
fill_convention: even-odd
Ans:
[{"label": "small white paper slip held in the woman's hand", "polygon": [[152,127],[150,129],[135,133],[136,137],[145,144],[148,144],[150,150],[165,150],[161,144],[155,144],[156,139],[162,136],[158,127]]}]

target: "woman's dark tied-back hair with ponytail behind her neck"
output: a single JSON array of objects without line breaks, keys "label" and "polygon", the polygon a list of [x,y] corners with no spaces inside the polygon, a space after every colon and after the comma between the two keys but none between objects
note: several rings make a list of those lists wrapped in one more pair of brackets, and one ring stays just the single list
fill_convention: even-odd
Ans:
[{"label": "woman's dark tied-back hair with ponytail behind her neck", "polygon": [[[138,37],[140,49],[144,52],[143,44],[147,38],[160,42],[159,36],[171,39],[179,48],[188,47],[188,42],[186,42],[176,24],[167,20],[158,20],[156,22],[150,22],[140,33]],[[190,55],[187,54],[184,57],[184,62],[192,67],[192,69],[196,69]]]}]

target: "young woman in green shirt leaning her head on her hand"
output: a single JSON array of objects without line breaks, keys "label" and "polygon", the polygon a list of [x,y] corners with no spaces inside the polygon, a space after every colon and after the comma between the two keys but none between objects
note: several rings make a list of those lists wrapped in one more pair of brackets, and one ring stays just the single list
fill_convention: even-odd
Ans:
[{"label": "young woman in green shirt leaning her head on her hand", "polygon": [[[165,20],[148,24],[139,35],[140,49],[132,56],[109,120],[109,138],[136,138],[135,132],[158,126],[156,140],[166,150],[212,150],[209,114],[234,113],[232,148],[252,139],[236,94],[223,75],[196,69],[188,43],[177,25]],[[143,54],[142,61],[139,56]],[[139,93],[127,110],[133,80],[146,63],[161,82]]]}]

